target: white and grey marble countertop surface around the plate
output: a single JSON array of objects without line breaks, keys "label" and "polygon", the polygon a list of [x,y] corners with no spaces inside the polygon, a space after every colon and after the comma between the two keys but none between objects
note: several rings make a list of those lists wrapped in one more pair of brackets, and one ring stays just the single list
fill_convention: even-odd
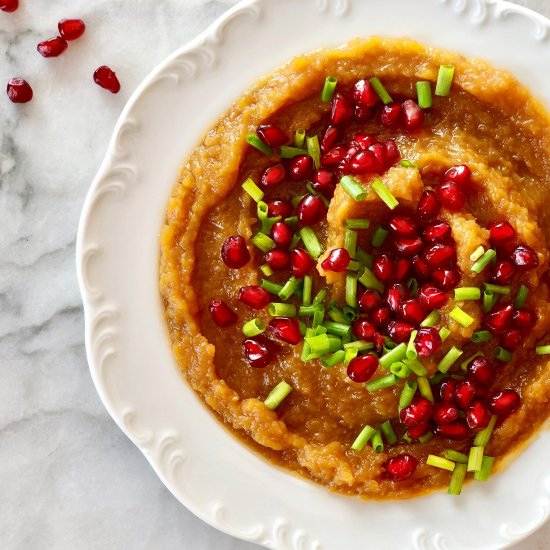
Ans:
[{"label": "white and grey marble countertop surface around the plate", "polygon": [[[195,518],[111,420],[86,364],[75,274],[80,209],[139,82],[235,0],[20,0],[0,12],[0,549],[252,550]],[[522,0],[550,16],[548,0]],[[79,17],[57,59],[36,44]],[[112,95],[92,82],[117,72]],[[550,524],[516,550],[550,548]]]}]

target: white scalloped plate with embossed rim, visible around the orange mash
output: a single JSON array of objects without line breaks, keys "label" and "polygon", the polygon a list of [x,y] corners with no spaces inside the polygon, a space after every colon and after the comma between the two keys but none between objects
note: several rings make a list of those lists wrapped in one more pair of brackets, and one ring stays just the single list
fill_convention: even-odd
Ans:
[{"label": "white scalloped plate with embossed rim, visible around the orange mash", "polygon": [[550,513],[544,431],[460,498],[367,502],[331,494],[239,443],[186,385],[157,285],[158,235],[180,165],[259,76],[371,34],[409,36],[514,73],[550,105],[550,21],[490,0],[249,0],[161,63],[124,109],[78,234],[92,377],[159,477],[214,527],[270,548],[496,549]]}]

